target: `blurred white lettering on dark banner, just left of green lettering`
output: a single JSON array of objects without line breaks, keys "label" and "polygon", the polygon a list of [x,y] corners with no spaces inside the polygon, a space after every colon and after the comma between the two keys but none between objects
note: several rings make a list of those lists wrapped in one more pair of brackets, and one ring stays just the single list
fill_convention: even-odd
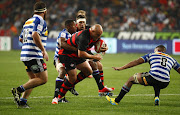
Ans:
[{"label": "blurred white lettering on dark banner, just left of green lettering", "polygon": [[119,32],[117,39],[123,40],[153,40],[155,32]]}]

